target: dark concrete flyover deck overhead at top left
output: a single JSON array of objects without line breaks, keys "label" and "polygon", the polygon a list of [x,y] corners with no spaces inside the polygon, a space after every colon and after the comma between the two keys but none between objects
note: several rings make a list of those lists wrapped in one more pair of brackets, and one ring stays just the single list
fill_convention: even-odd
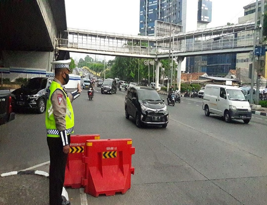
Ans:
[{"label": "dark concrete flyover deck overhead at top left", "polygon": [[1,50],[52,51],[67,28],[64,0],[0,1]]}]

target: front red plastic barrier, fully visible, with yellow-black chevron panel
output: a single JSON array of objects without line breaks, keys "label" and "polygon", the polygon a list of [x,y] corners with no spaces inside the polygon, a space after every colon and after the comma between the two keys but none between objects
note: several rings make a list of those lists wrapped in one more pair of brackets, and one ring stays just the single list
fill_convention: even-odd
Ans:
[{"label": "front red plastic barrier, fully visible, with yellow-black chevron panel", "polygon": [[92,196],[125,193],[131,188],[132,139],[87,140],[85,148],[84,192]]}]

